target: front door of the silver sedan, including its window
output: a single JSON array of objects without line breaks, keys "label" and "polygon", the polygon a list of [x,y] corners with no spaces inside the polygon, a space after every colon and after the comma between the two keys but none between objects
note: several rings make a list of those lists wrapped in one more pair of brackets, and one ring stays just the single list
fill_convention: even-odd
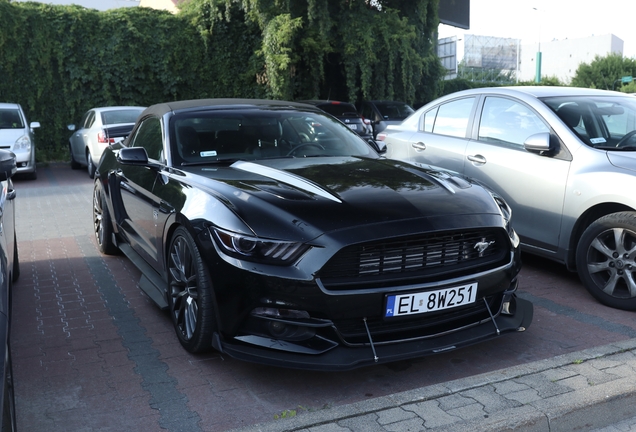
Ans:
[{"label": "front door of the silver sedan, including its window", "polygon": [[563,214],[569,153],[535,152],[528,137],[550,133],[548,123],[515,99],[486,96],[476,125],[476,139],[466,147],[463,172],[501,194],[513,212],[513,227],[522,242],[556,250]]}]

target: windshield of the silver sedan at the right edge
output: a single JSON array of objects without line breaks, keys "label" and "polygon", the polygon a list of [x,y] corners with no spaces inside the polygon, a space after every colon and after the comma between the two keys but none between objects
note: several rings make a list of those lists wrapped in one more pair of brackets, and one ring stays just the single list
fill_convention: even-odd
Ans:
[{"label": "windshield of the silver sedan at the right edge", "polygon": [[636,151],[636,98],[551,97],[542,99],[590,147]]}]

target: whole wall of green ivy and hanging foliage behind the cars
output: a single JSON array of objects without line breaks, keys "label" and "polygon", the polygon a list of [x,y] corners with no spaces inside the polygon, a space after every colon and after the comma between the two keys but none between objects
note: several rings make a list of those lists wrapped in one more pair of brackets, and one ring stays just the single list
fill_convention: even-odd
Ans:
[{"label": "whole wall of green ivy and hanging foliage behind the cars", "polygon": [[0,101],[68,160],[96,106],[204,97],[426,102],[442,75],[438,0],[189,0],[176,14],[0,0]]}]

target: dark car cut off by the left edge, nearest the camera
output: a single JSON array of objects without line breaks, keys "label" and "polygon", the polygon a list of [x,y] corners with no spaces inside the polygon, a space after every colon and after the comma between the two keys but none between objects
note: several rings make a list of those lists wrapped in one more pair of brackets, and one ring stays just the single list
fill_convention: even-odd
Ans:
[{"label": "dark car cut off by the left edge, nearest the camera", "polygon": [[2,397],[0,424],[3,431],[14,431],[16,424],[13,391],[13,364],[11,362],[11,290],[20,276],[20,260],[15,233],[15,197],[11,178],[17,172],[16,156],[0,150],[0,372]]}]

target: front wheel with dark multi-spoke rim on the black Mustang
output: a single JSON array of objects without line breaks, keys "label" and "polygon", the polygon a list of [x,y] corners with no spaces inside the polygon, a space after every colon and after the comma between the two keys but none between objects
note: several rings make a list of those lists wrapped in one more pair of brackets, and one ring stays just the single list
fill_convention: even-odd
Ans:
[{"label": "front wheel with dark multi-spoke rim on the black Mustang", "polygon": [[168,250],[168,308],[181,345],[191,353],[212,349],[217,328],[212,284],[190,233],[175,230]]}]

